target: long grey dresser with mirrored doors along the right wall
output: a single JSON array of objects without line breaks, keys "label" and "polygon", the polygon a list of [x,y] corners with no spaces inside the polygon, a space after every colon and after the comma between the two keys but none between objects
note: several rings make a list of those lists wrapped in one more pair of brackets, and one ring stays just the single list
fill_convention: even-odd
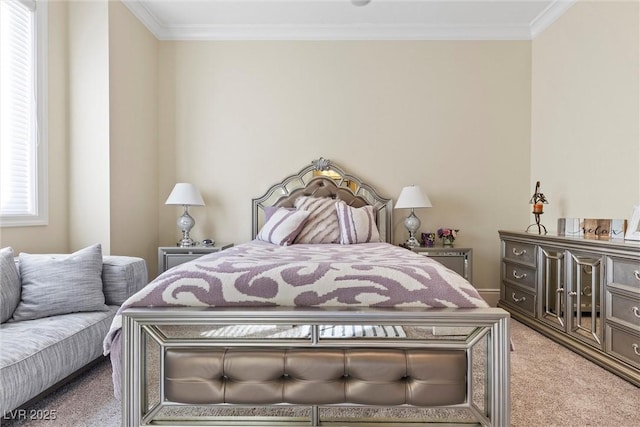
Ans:
[{"label": "long grey dresser with mirrored doors along the right wall", "polygon": [[640,386],[640,242],[499,235],[498,305]]}]

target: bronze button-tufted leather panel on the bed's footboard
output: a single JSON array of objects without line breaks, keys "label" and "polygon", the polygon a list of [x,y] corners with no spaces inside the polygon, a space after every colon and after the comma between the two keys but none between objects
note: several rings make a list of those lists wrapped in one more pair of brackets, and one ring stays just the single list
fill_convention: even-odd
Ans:
[{"label": "bronze button-tufted leather panel on the bed's footboard", "polygon": [[166,351],[165,394],[190,404],[463,403],[466,355],[424,349]]}]

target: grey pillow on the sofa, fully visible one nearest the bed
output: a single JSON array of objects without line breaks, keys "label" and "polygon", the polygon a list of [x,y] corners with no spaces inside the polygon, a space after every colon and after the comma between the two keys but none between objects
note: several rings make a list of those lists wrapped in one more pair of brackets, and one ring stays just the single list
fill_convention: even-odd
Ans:
[{"label": "grey pillow on the sofa, fully visible one nearest the bed", "polygon": [[102,246],[70,255],[20,254],[22,299],[13,320],[108,310],[102,292]]}]

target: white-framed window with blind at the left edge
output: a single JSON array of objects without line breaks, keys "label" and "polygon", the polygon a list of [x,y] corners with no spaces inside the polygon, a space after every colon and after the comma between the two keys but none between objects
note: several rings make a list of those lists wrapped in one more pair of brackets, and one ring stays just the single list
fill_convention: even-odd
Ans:
[{"label": "white-framed window with blind at the left edge", "polygon": [[0,225],[45,225],[46,2],[0,2]]}]

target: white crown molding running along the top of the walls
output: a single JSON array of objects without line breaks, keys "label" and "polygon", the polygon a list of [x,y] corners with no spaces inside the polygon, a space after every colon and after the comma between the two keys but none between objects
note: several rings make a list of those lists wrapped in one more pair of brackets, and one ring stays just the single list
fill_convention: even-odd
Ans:
[{"label": "white crown molding running along the top of the walls", "polygon": [[158,40],[531,40],[577,0],[556,0],[531,25],[184,25],[159,20],[143,2],[123,0]]}]

